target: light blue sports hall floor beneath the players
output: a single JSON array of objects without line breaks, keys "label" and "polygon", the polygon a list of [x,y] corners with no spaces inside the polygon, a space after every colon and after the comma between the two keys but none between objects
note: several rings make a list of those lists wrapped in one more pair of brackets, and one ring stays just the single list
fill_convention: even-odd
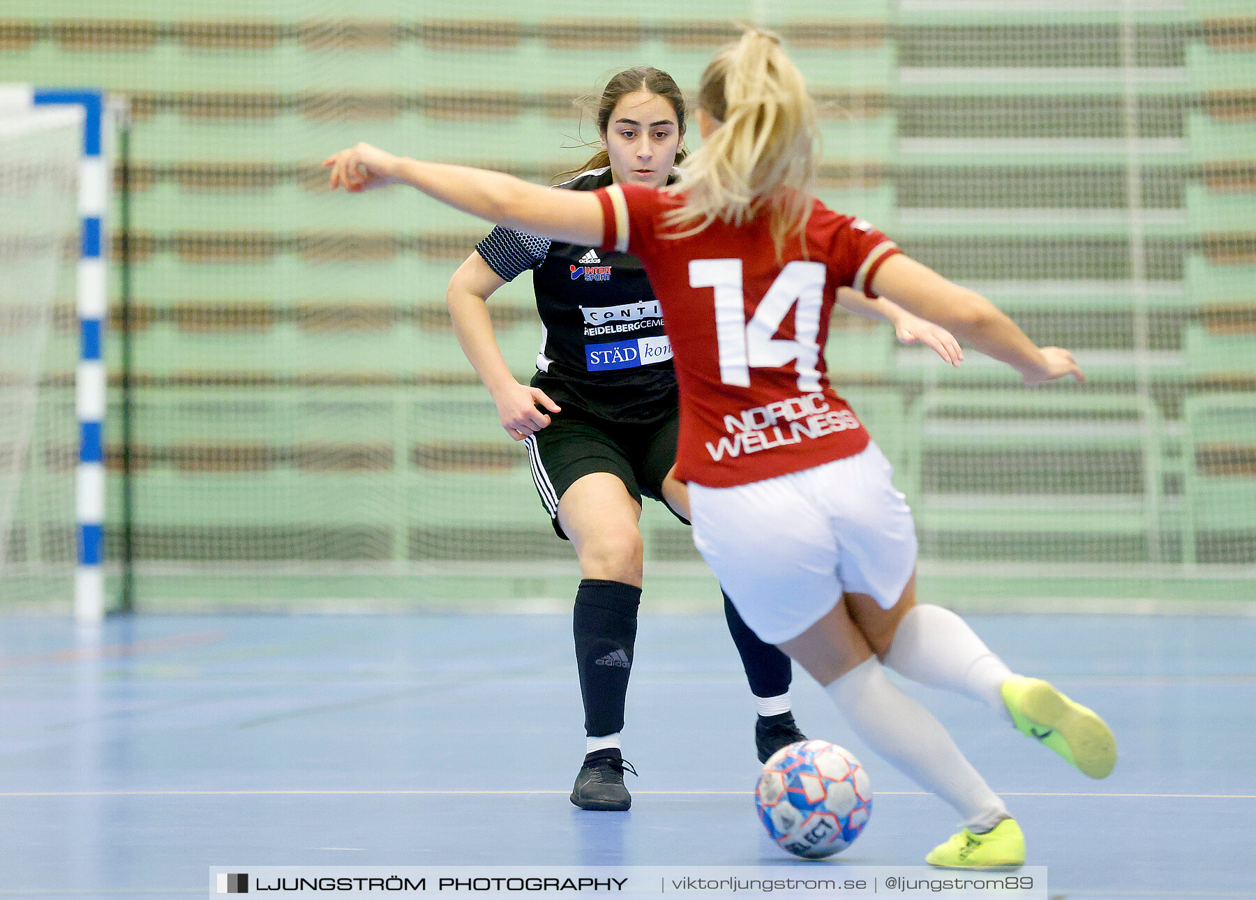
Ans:
[{"label": "light blue sports hall floor beneath the players", "polygon": [[[1090,781],[983,707],[911,687],[1024,826],[1058,897],[1256,897],[1256,618],[970,616],[1113,726]],[[583,756],[561,615],[139,616],[0,629],[0,895],[161,897],[210,866],[919,865],[955,828],[805,673],[795,710],[875,802],[825,864],[754,815],[754,705],[722,618],[643,615],[633,808],[568,802]]]}]

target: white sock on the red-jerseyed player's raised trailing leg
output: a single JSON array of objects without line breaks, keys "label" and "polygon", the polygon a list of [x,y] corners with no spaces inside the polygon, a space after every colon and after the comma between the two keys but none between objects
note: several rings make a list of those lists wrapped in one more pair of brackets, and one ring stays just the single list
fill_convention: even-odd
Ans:
[{"label": "white sock on the red-jerseyed player's raised trailing leg", "polygon": [[885,665],[913,682],[981,700],[1007,722],[1001,688],[1012,677],[968,623],[941,606],[913,606],[898,623]]}]

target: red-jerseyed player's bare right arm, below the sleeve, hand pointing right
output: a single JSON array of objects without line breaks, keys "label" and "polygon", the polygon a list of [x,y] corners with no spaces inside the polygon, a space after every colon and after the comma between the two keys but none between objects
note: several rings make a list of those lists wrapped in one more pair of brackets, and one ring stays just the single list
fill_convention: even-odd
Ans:
[{"label": "red-jerseyed player's bare right arm, below the sleeve, hand pointing right", "polygon": [[943,325],[987,356],[1007,363],[1026,384],[1065,375],[1084,380],[1071,353],[1059,346],[1039,348],[986,297],[947,281],[916,260],[891,256],[877,270],[872,289],[908,313]]}]

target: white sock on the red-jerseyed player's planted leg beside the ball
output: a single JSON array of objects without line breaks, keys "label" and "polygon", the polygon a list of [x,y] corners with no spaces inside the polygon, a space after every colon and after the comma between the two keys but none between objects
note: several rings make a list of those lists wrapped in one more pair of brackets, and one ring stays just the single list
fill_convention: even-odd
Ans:
[{"label": "white sock on the red-jerseyed player's planted leg beside the ball", "polygon": [[864,743],[958,810],[966,827],[987,831],[1009,817],[1004,801],[963,757],[942,723],[899,690],[875,656],[825,690]]}]

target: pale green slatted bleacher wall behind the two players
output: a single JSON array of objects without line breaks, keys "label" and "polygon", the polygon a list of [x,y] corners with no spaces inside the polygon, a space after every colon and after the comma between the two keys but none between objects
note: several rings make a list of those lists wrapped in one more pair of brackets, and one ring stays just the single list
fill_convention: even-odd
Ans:
[{"label": "pale green slatted bleacher wall behind the two players", "polygon": [[[834,385],[894,462],[929,596],[1256,584],[1247,0],[18,6],[0,77],[131,100],[141,609],[569,596],[574,554],[445,311],[486,227],[412,191],[332,195],[319,162],[368,141],[548,183],[597,137],[573,98],[638,64],[692,98],[739,18],[781,33],[820,102],[820,197],[1088,375],[1026,390],[835,316]],[[530,276],[489,305],[526,380]],[[688,530],[653,502],[642,521],[647,596],[706,608]]]}]

